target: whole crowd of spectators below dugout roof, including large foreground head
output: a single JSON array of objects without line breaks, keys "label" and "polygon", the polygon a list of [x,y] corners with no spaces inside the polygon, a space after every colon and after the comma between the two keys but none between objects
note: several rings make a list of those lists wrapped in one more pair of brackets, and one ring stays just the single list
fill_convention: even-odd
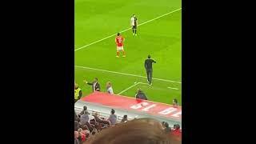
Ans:
[{"label": "whole crowd of spectators below dugout roof, including large foreground head", "polygon": [[[141,134],[142,132],[145,134]],[[172,128],[167,122],[161,123],[150,118],[128,120],[127,115],[123,115],[122,120],[118,121],[114,109],[110,111],[108,118],[101,117],[98,112],[90,114],[86,106],[83,106],[79,114],[74,113],[74,144],[136,144],[134,140],[137,138],[140,139],[138,143],[146,143],[149,140],[157,141],[155,143],[181,143],[182,131],[179,125]]]}]

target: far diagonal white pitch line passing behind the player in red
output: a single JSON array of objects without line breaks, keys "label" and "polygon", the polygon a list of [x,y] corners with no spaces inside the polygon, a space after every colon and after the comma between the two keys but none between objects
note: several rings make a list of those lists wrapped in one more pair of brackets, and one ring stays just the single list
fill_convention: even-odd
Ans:
[{"label": "far diagonal white pitch line passing behind the player in red", "polygon": [[[182,10],[182,8],[179,8],[179,9],[173,10],[173,11],[170,11],[169,13],[166,13],[166,14],[162,14],[161,16],[159,16],[159,17],[157,17],[157,18],[150,19],[149,21],[142,22],[141,24],[138,24],[138,26],[142,26],[142,25],[144,25],[144,24],[146,24],[146,23],[148,23],[148,22],[152,22],[152,21],[154,21],[154,20],[156,20],[156,19],[158,19],[158,18],[162,18],[162,17],[164,17],[164,16],[166,16],[166,15],[168,15],[168,14],[172,14],[172,13],[174,13],[175,11],[178,11],[178,10]],[[120,31],[120,33],[126,32],[127,30],[130,30],[130,29],[131,29],[131,27],[128,28],[128,29],[126,29],[126,30]],[[100,40],[98,40],[98,41],[96,41],[96,42],[92,42],[92,43],[90,43],[90,44],[88,44],[88,45],[86,45],[86,46],[79,47],[78,49],[75,49],[74,51],[81,50],[81,49],[86,48],[86,47],[88,47],[88,46],[90,46],[90,45],[93,45],[94,43],[97,43],[97,42],[102,42],[103,40],[105,40],[105,39],[107,39],[107,38],[113,37],[114,35],[116,35],[116,34],[111,34],[110,36],[108,36],[108,37],[106,37],[106,38],[102,38],[102,39],[100,39]]]}]

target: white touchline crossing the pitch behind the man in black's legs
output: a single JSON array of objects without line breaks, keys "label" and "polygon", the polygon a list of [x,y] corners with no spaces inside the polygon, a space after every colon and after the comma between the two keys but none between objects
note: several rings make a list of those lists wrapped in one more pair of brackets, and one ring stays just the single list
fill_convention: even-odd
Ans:
[{"label": "white touchline crossing the pitch behind the man in black's legs", "polygon": [[[110,70],[101,70],[101,69],[95,69],[95,68],[90,68],[90,67],[86,67],[86,66],[74,66],[74,67],[78,67],[78,68],[82,68],[82,69],[88,69],[88,70],[98,70],[98,71],[103,71],[103,72],[113,73],[113,74],[129,75],[129,76],[139,77],[139,78],[146,78],[146,77],[143,77],[141,75],[126,74],[126,73],[120,73],[120,72],[110,71]],[[162,79],[162,78],[152,78],[152,79],[155,79],[155,80],[158,80],[158,81],[164,81],[164,82],[182,83],[182,82],[170,81],[168,79]]]}]

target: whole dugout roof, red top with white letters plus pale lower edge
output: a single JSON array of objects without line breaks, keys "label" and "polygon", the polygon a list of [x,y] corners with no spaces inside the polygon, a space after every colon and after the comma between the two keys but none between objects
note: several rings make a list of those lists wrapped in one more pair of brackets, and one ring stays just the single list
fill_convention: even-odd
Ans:
[{"label": "whole dugout roof, red top with white letters plus pale lower edge", "polygon": [[123,115],[128,119],[134,118],[154,118],[160,122],[168,122],[170,126],[182,124],[182,107],[172,106],[165,103],[152,102],[147,100],[137,101],[136,98],[129,98],[122,95],[94,92],[81,98],[74,104],[74,110],[80,113],[88,106],[88,111],[94,111],[101,116],[108,118],[111,109],[114,108],[118,121]]}]

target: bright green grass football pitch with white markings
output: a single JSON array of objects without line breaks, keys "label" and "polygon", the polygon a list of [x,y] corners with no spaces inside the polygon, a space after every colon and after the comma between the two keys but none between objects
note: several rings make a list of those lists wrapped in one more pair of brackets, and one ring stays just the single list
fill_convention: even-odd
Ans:
[{"label": "bright green grass football pitch with white markings", "polygon": [[[154,102],[182,102],[182,2],[181,0],[75,0],[74,78],[83,95],[92,92],[95,77],[106,91],[134,97],[138,88]],[[138,36],[132,35],[130,18],[138,18]],[[115,35],[125,38],[126,58],[116,58]],[[150,54],[153,84],[146,82],[144,61]],[[107,101],[107,99],[106,99]]]}]

